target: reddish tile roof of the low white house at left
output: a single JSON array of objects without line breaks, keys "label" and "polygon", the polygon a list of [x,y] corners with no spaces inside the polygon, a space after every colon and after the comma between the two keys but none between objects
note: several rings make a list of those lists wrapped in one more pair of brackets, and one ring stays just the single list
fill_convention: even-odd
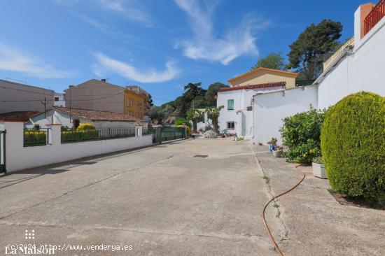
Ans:
[{"label": "reddish tile roof of the low white house at left", "polygon": [[[54,107],[57,111],[69,115],[69,108]],[[108,112],[108,111],[90,111],[87,109],[72,108],[71,115],[90,121],[120,121],[120,122],[139,122],[140,120],[130,115]]]}]

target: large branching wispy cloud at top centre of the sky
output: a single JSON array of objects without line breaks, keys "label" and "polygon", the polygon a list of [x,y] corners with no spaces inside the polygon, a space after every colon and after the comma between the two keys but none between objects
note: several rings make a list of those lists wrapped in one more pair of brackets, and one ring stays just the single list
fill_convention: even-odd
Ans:
[{"label": "large branching wispy cloud at top centre of the sky", "polygon": [[255,31],[262,27],[251,15],[246,15],[237,26],[228,29],[223,36],[214,31],[213,13],[217,1],[175,0],[187,15],[194,36],[179,41],[176,48],[183,48],[183,54],[191,59],[230,64],[241,55],[258,55],[255,45]]}]

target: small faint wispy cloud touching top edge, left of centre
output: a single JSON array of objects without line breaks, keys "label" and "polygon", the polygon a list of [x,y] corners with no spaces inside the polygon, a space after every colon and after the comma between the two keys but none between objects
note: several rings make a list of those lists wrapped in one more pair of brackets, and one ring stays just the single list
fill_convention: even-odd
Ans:
[{"label": "small faint wispy cloud touching top edge, left of centre", "polygon": [[130,20],[142,22],[148,26],[153,24],[150,15],[136,0],[99,0],[104,8],[124,15]]}]

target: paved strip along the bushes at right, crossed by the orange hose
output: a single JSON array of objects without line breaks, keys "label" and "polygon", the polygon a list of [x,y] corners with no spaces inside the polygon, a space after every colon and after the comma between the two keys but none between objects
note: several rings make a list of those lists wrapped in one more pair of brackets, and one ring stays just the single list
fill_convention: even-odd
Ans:
[{"label": "paved strip along the bushes at right, crossed by the orange hose", "polygon": [[272,157],[267,147],[254,149],[272,194],[306,174],[299,187],[276,201],[285,228],[274,236],[285,255],[385,255],[385,211],[341,205],[328,192],[328,180],[315,178],[311,167],[299,172],[297,164]]}]

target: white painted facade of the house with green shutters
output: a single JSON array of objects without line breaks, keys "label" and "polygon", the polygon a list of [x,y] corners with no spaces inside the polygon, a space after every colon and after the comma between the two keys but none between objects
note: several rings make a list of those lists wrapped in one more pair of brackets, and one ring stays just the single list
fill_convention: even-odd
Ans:
[{"label": "white painted facade of the house with green shutters", "polygon": [[[219,131],[225,129],[229,134],[237,134],[245,138],[253,137],[253,111],[247,110],[253,106],[253,96],[267,92],[284,90],[281,86],[262,87],[255,89],[241,89],[227,92],[218,92],[217,106],[224,106],[218,118]],[[228,110],[228,100],[234,100],[234,110]],[[250,109],[250,108],[249,108]],[[235,122],[234,129],[228,129],[228,122]]]}]

